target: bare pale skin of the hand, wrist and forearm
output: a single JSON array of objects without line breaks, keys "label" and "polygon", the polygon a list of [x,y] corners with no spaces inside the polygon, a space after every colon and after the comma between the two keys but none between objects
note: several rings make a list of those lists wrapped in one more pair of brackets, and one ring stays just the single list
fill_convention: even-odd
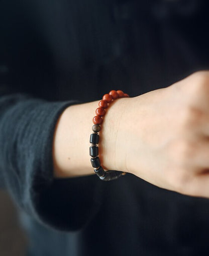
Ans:
[{"label": "bare pale skin of the hand, wrist and forearm", "polygon": [[[73,105],[60,116],[53,146],[55,177],[94,174],[89,136],[97,105],[98,101]],[[209,72],[115,100],[103,119],[98,146],[108,170],[209,198]]]}]

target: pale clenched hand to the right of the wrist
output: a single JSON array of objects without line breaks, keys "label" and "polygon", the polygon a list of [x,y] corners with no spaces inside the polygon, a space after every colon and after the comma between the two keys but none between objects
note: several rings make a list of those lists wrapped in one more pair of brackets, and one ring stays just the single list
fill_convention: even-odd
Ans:
[{"label": "pale clenched hand to the right of the wrist", "polygon": [[116,169],[209,198],[209,72],[120,101]]}]

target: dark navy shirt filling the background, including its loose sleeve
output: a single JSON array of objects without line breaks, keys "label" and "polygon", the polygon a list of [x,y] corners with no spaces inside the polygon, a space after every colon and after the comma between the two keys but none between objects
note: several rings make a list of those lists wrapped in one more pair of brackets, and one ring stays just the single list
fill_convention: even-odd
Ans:
[{"label": "dark navy shirt filling the background, including its loose sleeve", "polygon": [[54,179],[52,161],[67,106],[112,89],[137,96],[207,69],[208,7],[206,0],[1,1],[0,173],[22,213],[29,255],[208,254],[207,199],[132,174]]}]

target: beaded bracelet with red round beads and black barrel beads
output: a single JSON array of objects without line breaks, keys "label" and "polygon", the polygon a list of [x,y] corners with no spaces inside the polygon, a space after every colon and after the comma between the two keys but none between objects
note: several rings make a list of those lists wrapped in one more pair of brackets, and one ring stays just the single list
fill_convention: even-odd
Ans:
[{"label": "beaded bracelet with red round beads and black barrel beads", "polygon": [[96,109],[96,116],[93,117],[93,126],[92,131],[93,133],[90,135],[90,143],[91,147],[89,148],[89,155],[91,156],[91,165],[94,168],[94,172],[101,180],[113,180],[119,178],[121,175],[125,175],[125,172],[122,171],[104,171],[101,167],[100,160],[98,157],[98,147],[97,144],[99,142],[99,135],[98,132],[100,131],[100,125],[102,123],[102,118],[106,113],[106,108],[108,107],[109,103],[113,100],[118,98],[129,97],[128,94],[124,93],[123,91],[115,91],[112,90],[109,94],[104,94],[102,100],[98,103],[98,108]]}]

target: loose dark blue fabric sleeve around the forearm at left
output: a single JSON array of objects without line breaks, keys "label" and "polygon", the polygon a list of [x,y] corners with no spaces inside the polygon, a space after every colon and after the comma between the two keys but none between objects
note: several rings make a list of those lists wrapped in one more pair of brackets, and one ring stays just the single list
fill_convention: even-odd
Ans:
[{"label": "loose dark blue fabric sleeve around the forearm at left", "polygon": [[62,230],[82,228],[97,212],[94,175],[55,180],[52,144],[61,112],[75,101],[26,95],[0,98],[0,172],[15,203],[36,220]]}]

